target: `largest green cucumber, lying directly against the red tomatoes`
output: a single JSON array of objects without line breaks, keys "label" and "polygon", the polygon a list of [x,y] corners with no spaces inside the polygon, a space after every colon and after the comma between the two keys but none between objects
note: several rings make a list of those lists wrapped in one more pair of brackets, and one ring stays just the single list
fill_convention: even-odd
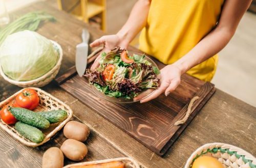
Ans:
[{"label": "largest green cucumber, lying directly against the red tomatoes", "polygon": [[38,128],[48,128],[50,126],[50,122],[46,118],[35,113],[34,111],[20,107],[12,107],[10,111],[17,120],[28,125]]}]

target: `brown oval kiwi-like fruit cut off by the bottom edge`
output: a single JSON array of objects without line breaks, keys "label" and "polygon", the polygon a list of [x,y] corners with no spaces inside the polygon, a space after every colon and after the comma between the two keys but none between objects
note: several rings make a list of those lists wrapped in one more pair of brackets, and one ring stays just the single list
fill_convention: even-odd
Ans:
[{"label": "brown oval kiwi-like fruit cut off by the bottom edge", "polygon": [[49,148],[42,156],[42,168],[61,168],[64,165],[64,156],[57,147]]}]

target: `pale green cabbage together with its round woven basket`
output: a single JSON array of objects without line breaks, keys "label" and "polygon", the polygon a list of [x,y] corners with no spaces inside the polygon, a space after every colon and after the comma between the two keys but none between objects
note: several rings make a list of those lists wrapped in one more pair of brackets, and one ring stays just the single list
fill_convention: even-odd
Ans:
[{"label": "pale green cabbage together with its round woven basket", "polygon": [[0,46],[0,74],[19,87],[43,87],[57,75],[60,45],[33,31],[13,33]]}]

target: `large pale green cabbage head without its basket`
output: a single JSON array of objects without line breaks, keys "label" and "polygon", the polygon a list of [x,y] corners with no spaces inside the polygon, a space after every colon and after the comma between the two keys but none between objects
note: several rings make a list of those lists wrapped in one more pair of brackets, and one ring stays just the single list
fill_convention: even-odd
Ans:
[{"label": "large pale green cabbage head without its basket", "polygon": [[32,31],[9,35],[0,46],[0,65],[16,81],[29,81],[49,72],[59,53],[52,42]]}]

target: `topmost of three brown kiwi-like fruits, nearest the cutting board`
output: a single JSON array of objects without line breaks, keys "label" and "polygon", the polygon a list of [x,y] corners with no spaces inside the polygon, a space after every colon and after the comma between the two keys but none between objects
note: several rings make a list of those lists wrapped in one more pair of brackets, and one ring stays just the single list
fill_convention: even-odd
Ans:
[{"label": "topmost of three brown kiwi-like fruits, nearest the cutting board", "polygon": [[69,139],[75,139],[77,141],[84,142],[89,136],[90,130],[89,127],[85,124],[77,121],[70,121],[65,125],[63,133]]}]

